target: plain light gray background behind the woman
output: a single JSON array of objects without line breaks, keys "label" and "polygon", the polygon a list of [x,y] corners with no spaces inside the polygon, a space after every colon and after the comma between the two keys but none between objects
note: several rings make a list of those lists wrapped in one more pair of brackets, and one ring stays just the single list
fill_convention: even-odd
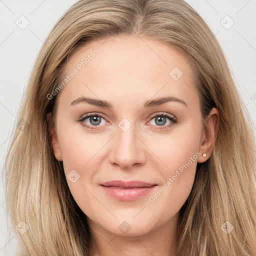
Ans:
[{"label": "plain light gray background behind the woman", "polygon": [[[74,2],[76,0],[0,0],[0,174],[35,57],[50,29]],[[223,48],[256,134],[256,1],[187,2],[206,21]],[[15,23],[21,23],[21,15],[29,21],[24,29]],[[22,20],[24,25],[24,18]],[[226,29],[232,22],[234,24]],[[0,175],[0,255],[9,256],[17,249],[17,234],[7,236],[6,216],[11,218],[11,213],[5,210],[3,183]]]}]

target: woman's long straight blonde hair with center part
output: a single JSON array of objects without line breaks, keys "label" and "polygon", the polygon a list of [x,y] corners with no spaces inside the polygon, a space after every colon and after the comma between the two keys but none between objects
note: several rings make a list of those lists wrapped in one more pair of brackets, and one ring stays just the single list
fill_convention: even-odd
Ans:
[{"label": "woman's long straight blonde hair with center part", "polygon": [[[255,141],[250,117],[224,54],[206,23],[183,0],[79,0],[57,21],[35,61],[10,145],[7,210],[13,227],[24,221],[22,255],[87,255],[85,214],[53,155],[47,98],[60,82],[68,56],[80,45],[111,35],[146,35],[175,47],[196,77],[202,120],[212,107],[219,129],[209,159],[197,164],[194,184],[180,209],[177,255],[256,255]],[[20,128],[21,127],[21,128]],[[229,222],[226,222],[229,221]],[[233,230],[225,232],[226,225]]]}]

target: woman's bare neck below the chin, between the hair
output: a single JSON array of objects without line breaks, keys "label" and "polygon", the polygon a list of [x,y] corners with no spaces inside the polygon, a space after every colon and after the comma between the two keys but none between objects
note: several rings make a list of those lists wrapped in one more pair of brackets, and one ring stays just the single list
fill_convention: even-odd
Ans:
[{"label": "woman's bare neck below the chin, between the hair", "polygon": [[159,227],[142,235],[118,235],[108,232],[88,219],[93,256],[176,256],[176,227],[178,214]]}]

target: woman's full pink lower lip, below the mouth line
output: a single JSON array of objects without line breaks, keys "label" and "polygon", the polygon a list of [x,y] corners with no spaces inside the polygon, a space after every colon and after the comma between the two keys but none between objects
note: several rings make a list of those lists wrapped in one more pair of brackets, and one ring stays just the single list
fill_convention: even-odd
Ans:
[{"label": "woman's full pink lower lip, below the mouth line", "polygon": [[131,188],[117,188],[114,186],[103,186],[100,185],[104,191],[115,199],[121,201],[132,201],[147,193],[149,193],[154,187],[131,187]]}]

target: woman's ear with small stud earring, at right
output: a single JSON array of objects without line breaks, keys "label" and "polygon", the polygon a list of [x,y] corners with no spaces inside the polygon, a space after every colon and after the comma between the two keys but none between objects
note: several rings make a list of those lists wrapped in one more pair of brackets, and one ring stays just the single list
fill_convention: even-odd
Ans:
[{"label": "woman's ear with small stud earring, at right", "polygon": [[213,107],[210,110],[203,124],[203,130],[199,146],[199,151],[201,152],[201,154],[198,156],[197,162],[204,162],[210,157],[211,151],[213,149],[217,137],[218,124],[218,110],[215,107]]}]

